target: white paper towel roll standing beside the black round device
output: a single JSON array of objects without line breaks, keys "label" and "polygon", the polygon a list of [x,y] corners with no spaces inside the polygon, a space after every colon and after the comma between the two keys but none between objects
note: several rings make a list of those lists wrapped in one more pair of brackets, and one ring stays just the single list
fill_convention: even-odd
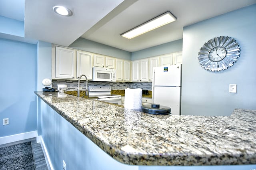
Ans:
[{"label": "white paper towel roll standing beside the black round device", "polygon": [[124,107],[127,109],[140,110],[142,104],[142,89],[125,89]]}]

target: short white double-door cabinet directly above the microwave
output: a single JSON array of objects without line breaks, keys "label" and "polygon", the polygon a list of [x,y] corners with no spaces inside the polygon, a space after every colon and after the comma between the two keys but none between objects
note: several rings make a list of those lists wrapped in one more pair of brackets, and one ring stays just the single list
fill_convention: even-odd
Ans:
[{"label": "short white double-door cabinet directly above the microwave", "polygon": [[94,54],[94,66],[116,69],[116,58]]}]

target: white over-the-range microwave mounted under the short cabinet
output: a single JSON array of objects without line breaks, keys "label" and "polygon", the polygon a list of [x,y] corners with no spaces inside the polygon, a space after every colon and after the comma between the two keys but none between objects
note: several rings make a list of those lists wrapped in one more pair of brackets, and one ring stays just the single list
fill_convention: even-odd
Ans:
[{"label": "white over-the-range microwave mounted under the short cabinet", "polygon": [[108,69],[104,67],[93,67],[93,81],[112,81],[116,82],[116,69]]}]

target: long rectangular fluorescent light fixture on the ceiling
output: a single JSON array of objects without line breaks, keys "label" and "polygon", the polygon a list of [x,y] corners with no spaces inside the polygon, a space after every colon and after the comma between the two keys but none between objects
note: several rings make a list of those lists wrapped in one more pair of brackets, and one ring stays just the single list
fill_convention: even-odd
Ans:
[{"label": "long rectangular fluorescent light fixture on the ceiling", "polygon": [[144,24],[141,24],[140,26],[137,26],[136,28],[133,28],[132,30],[129,30],[128,32],[121,34],[121,36],[131,39],[176,20],[177,18],[175,16],[173,16],[170,12],[166,12],[156,18],[153,18],[152,20],[145,22]]}]

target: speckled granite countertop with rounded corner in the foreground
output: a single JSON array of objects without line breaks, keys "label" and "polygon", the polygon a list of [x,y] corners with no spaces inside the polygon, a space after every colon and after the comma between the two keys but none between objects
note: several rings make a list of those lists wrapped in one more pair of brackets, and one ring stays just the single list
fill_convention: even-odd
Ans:
[{"label": "speckled granite countertop with rounded corner in the foreground", "polygon": [[124,164],[256,164],[256,110],[234,109],[229,117],[149,115],[72,95],[35,93]]}]

